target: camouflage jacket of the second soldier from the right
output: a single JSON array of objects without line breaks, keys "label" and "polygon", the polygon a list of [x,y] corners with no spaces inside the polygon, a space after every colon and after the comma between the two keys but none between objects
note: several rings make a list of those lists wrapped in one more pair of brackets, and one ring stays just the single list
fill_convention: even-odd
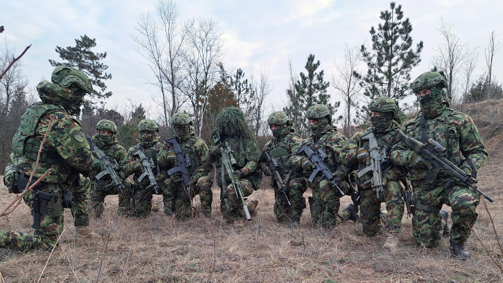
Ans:
[{"label": "camouflage jacket of the second soldier from the right", "polygon": [[[343,169],[342,172],[352,171],[353,169],[362,170],[365,168],[365,164],[358,162],[357,152],[359,148],[364,148],[366,150],[370,149],[369,142],[367,140],[363,141],[361,137],[372,130],[373,128],[368,128],[367,130],[359,131],[348,140],[348,143],[343,147],[339,156],[341,157],[343,168],[347,167],[349,169]],[[396,130],[397,129],[392,129],[385,134],[380,134],[374,131],[377,145],[386,152],[386,156],[388,157],[391,152],[391,138]],[[407,175],[406,167],[394,165],[391,161],[389,161],[389,159],[381,164],[381,169],[383,176],[386,176],[388,181],[396,181]],[[364,185],[364,183],[370,179],[372,179],[372,171],[360,178],[357,177],[356,182],[358,187],[364,189],[371,188],[372,185],[370,183],[368,185]]]}]

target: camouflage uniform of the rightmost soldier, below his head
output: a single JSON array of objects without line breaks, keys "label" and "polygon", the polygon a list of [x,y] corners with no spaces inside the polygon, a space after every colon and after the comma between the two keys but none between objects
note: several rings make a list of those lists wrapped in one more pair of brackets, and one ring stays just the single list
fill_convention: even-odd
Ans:
[{"label": "camouflage uniform of the rightmost soldier, below his head", "polygon": [[[467,162],[462,163],[463,153],[473,164],[473,174],[487,160],[487,150],[484,147],[482,138],[477,127],[471,118],[453,108],[441,104],[437,109],[430,109],[425,113],[420,112],[417,116],[405,122],[402,131],[408,136],[421,140],[420,118],[426,117],[426,138],[435,139],[440,145],[446,148],[445,157],[455,165],[463,168],[470,168]],[[432,116],[435,115],[436,116]],[[398,143],[393,147],[390,159],[393,163],[401,166],[408,166],[413,152],[408,150],[403,143]],[[416,203],[441,208],[442,204],[452,207],[453,226],[451,228],[451,242],[455,245],[462,245],[470,235],[469,227],[472,227],[477,220],[475,209],[479,203],[480,195],[470,188],[451,186],[445,188],[449,177],[439,175],[437,182],[429,184],[426,177],[429,172],[427,168],[409,168],[409,179],[414,189]],[[413,234],[417,243],[424,243],[427,247],[434,247],[439,244],[441,234],[440,215],[428,213],[420,209],[415,210],[412,218]]]}]

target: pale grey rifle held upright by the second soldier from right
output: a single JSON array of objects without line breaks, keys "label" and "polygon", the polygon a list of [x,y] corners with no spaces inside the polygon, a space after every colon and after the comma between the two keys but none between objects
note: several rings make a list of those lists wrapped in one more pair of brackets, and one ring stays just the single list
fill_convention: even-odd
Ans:
[{"label": "pale grey rifle held upright by the second soldier from right", "polygon": [[379,193],[384,191],[382,168],[381,164],[386,161],[386,151],[381,149],[377,144],[377,139],[374,135],[374,131],[370,131],[361,136],[361,140],[369,141],[369,157],[366,162],[366,167],[358,172],[358,178],[372,171],[372,179],[365,182],[365,184],[372,182],[372,188],[376,190],[377,198],[379,199]]}]

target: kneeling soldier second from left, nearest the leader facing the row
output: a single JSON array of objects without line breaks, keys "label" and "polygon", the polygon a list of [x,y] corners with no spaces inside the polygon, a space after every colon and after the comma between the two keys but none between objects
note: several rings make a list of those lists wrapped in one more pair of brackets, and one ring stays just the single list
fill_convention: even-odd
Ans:
[{"label": "kneeling soldier second from left, nearest the leader facing the row", "polygon": [[116,138],[117,125],[110,120],[101,120],[96,125],[98,133],[93,135],[93,141],[98,150],[101,150],[104,154],[108,156],[108,161],[112,166],[117,166],[115,171],[124,185],[122,192],[120,188],[113,182],[110,174],[105,174],[99,180],[96,176],[100,174],[105,168],[98,156],[93,154],[94,163],[93,170],[91,170],[91,193],[89,206],[91,209],[91,214],[95,217],[101,217],[105,207],[103,203],[105,202],[105,197],[107,195],[119,195],[119,206],[117,211],[119,214],[127,215],[128,211],[131,209],[130,199],[131,199],[131,183],[120,172],[121,167],[118,166],[126,160],[126,150],[119,145],[119,141]]}]

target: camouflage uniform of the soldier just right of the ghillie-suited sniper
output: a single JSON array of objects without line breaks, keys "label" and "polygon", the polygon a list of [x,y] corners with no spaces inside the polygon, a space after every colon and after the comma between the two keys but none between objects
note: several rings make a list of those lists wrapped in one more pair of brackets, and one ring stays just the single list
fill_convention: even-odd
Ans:
[{"label": "camouflage uniform of the soldier just right of the ghillie-suited sniper", "polygon": [[[273,114],[275,113],[278,112],[274,112]],[[275,121],[276,120],[277,119],[275,119]],[[269,119],[269,123],[270,122],[271,121]],[[289,160],[299,150],[300,146],[302,145],[303,139],[295,132],[292,127],[287,126],[286,129],[287,133],[279,136],[278,138],[273,138],[269,143],[266,144],[264,151],[269,153],[271,158],[276,159],[279,167],[277,169],[277,172],[280,175],[281,180],[286,181],[287,176],[290,174],[290,179],[284,186],[291,206],[288,205],[285,194],[274,181],[274,177],[271,177],[271,184],[274,188],[275,196],[274,214],[276,215],[276,219],[278,220],[278,222],[293,221],[298,223],[302,216],[302,212],[306,207],[304,192],[306,191],[307,183],[305,178],[303,178],[302,176],[302,170],[295,171],[290,168]],[[275,152],[279,154],[285,154],[278,156],[278,154],[275,154]],[[259,168],[262,170],[262,172],[271,170],[264,153],[262,153],[260,156]]]}]

